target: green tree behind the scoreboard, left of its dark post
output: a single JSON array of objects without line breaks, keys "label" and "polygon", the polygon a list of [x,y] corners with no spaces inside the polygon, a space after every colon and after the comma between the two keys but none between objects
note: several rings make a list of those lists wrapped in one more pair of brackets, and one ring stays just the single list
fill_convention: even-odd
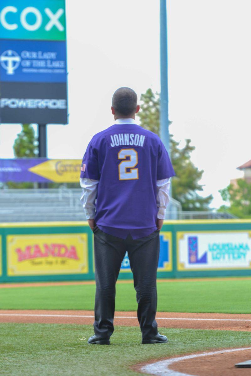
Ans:
[{"label": "green tree behind the scoreboard, left of its dark post", "polygon": [[[31,124],[22,124],[13,145],[15,158],[35,158],[38,156],[38,141]],[[9,188],[33,188],[33,183],[7,183]]]}]

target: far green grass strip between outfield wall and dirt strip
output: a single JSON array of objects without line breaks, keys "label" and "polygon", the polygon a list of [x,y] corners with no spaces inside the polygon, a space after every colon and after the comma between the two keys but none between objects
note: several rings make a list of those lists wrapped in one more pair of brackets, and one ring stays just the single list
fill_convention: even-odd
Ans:
[{"label": "far green grass strip between outfield wall and dirt strip", "polygon": [[[116,310],[135,311],[133,284],[117,284]],[[158,311],[251,313],[251,279],[158,282]],[[93,309],[95,285],[0,289],[0,309]]]}]

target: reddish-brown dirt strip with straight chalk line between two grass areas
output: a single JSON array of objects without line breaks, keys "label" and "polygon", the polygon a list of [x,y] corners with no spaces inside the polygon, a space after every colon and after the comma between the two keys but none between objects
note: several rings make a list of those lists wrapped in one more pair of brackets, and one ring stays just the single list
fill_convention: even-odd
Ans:
[{"label": "reddish-brown dirt strip with straight chalk line between two grass areas", "polygon": [[[93,324],[93,311],[1,310],[2,323]],[[158,312],[158,325],[167,328],[251,331],[250,314]],[[116,312],[115,325],[137,326],[136,312]]]}]

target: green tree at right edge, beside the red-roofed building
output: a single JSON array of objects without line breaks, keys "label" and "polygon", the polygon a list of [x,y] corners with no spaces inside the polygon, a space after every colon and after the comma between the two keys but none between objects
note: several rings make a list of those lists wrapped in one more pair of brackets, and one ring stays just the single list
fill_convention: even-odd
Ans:
[{"label": "green tree at right edge, beside the red-roofed building", "polygon": [[228,211],[238,218],[251,218],[251,183],[244,179],[237,179],[237,185],[229,184],[219,190],[222,200],[230,206],[222,205],[219,211]]}]

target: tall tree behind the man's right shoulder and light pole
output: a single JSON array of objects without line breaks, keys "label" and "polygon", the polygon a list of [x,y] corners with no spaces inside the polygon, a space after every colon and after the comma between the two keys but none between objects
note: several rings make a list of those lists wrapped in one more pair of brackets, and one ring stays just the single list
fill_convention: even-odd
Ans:
[{"label": "tall tree behind the man's right shoulder and light pole", "polygon": [[[140,97],[141,109],[138,113],[141,126],[160,135],[160,96],[148,89]],[[191,140],[186,139],[186,145],[180,148],[180,143],[170,135],[170,156],[176,176],[172,179],[172,196],[178,200],[183,210],[208,210],[208,205],[213,199],[212,195],[199,196],[197,191],[203,191],[199,180],[204,170],[199,171],[190,159],[190,154],[195,150]]]}]

